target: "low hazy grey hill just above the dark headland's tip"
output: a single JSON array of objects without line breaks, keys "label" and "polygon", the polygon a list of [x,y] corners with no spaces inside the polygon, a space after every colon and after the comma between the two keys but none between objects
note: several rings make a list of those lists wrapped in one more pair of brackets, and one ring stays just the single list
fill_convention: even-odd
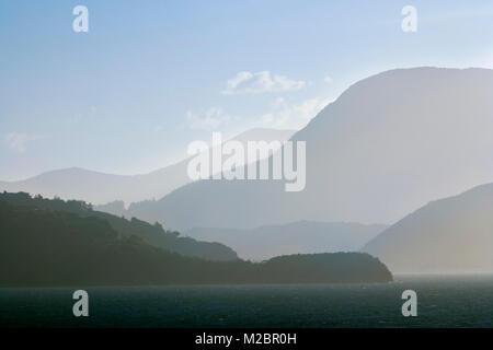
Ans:
[{"label": "low hazy grey hill just above the dark headland's tip", "polygon": [[233,248],[240,258],[260,261],[278,255],[357,252],[386,228],[298,221],[252,230],[194,228],[183,234],[199,241],[223,243]]}]

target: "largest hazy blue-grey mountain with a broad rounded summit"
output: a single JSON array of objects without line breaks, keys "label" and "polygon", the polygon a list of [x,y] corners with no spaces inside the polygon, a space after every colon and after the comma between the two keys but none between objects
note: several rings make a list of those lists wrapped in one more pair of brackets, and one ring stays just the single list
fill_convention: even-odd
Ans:
[{"label": "largest hazy blue-grey mountain with a broad rounded summit", "polygon": [[493,70],[415,68],[362,80],[291,140],[307,142],[303,191],[283,180],[200,180],[129,214],[167,226],[392,223],[493,179]]}]

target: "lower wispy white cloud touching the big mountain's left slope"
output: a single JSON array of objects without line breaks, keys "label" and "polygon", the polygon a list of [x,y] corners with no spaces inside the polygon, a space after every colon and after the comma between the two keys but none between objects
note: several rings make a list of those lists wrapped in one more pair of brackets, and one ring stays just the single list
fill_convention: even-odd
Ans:
[{"label": "lower wispy white cloud touching the big mountain's left slope", "polygon": [[333,101],[314,97],[293,104],[279,97],[272,104],[271,110],[261,117],[260,124],[266,128],[301,129]]}]

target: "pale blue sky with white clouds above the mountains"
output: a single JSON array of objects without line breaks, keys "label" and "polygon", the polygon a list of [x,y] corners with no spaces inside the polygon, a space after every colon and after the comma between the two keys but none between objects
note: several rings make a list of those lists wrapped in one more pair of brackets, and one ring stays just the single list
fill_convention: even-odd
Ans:
[{"label": "pale blue sky with white clouds above the mountains", "polygon": [[300,129],[385,70],[493,68],[492,38],[492,1],[0,0],[0,179],[141,174],[213,131]]}]

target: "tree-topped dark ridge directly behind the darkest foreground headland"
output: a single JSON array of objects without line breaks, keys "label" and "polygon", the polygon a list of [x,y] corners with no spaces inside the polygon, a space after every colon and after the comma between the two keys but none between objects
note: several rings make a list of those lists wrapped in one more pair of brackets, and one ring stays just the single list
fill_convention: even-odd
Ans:
[{"label": "tree-topped dark ridge directly behind the darkest foreground headland", "polygon": [[47,199],[41,196],[32,198],[26,192],[0,192],[0,202],[7,202],[13,207],[24,207],[46,211],[62,211],[77,214],[82,218],[93,217],[105,221],[121,235],[131,235],[142,238],[152,246],[179,253],[184,256],[198,257],[208,260],[236,260],[237,253],[220,243],[199,242],[190,237],[181,237],[179,232],[167,231],[159,223],[153,225],[148,222],[131,218],[116,217],[92,209],[92,206],[79,200],[64,201],[61,199]]}]

